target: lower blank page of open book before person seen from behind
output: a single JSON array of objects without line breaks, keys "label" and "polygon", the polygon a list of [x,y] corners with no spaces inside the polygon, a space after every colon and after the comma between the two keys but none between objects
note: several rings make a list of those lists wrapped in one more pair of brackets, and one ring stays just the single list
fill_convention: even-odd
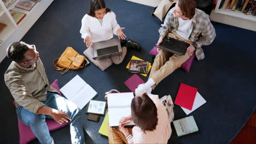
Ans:
[{"label": "lower blank page of open book before person seen from behind", "polygon": [[[119,120],[122,117],[127,117],[131,115],[131,107],[108,109],[108,115],[109,115],[109,127],[118,127]],[[133,121],[131,121],[127,125],[135,125],[135,124],[133,123]]]}]

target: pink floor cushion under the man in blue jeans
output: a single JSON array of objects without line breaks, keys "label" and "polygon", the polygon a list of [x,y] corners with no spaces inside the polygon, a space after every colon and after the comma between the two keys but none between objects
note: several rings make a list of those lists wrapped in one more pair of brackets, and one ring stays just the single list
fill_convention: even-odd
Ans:
[{"label": "pink floor cushion under the man in blue jeans", "polygon": [[[60,88],[59,88],[57,79],[53,83],[51,83],[51,86],[56,88],[57,91],[60,92]],[[13,103],[15,105],[14,101],[13,101]],[[54,119],[48,119],[48,118],[46,118],[45,121],[47,123],[49,131],[64,127],[65,125],[69,124],[69,123],[59,124],[59,123],[55,122]],[[36,136],[33,134],[30,127],[21,123],[19,118],[18,118],[18,127],[19,127],[19,134],[20,134],[20,144],[28,143],[31,140],[36,139]]]}]

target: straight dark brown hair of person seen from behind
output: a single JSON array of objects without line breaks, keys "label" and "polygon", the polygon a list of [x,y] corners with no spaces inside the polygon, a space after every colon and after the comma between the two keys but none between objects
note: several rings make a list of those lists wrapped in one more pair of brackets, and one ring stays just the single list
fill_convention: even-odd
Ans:
[{"label": "straight dark brown hair of person seen from behind", "polygon": [[146,93],[142,97],[134,97],[131,101],[131,116],[133,122],[142,131],[153,131],[158,125],[158,109]]}]

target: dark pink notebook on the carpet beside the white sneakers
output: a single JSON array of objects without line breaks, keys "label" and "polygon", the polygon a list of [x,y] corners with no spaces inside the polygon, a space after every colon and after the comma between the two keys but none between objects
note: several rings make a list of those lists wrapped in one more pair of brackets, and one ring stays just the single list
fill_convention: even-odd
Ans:
[{"label": "dark pink notebook on the carpet beside the white sneakers", "polygon": [[145,82],[137,74],[134,74],[124,83],[135,94],[135,89],[138,87],[138,85]]}]

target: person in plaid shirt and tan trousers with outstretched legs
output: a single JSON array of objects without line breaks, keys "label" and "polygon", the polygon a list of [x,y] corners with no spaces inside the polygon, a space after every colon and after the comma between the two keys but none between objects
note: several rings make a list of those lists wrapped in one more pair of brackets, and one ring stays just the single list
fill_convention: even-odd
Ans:
[{"label": "person in plaid shirt and tan trousers with outstretched legs", "polygon": [[215,29],[209,16],[202,10],[196,9],[195,0],[179,0],[174,8],[166,15],[164,24],[159,29],[160,38],[165,36],[185,41],[190,46],[185,55],[179,56],[162,49],[155,57],[149,79],[136,88],[136,94],[151,93],[158,83],[181,67],[195,53],[198,60],[205,58],[202,45],[210,45],[216,37]]}]

